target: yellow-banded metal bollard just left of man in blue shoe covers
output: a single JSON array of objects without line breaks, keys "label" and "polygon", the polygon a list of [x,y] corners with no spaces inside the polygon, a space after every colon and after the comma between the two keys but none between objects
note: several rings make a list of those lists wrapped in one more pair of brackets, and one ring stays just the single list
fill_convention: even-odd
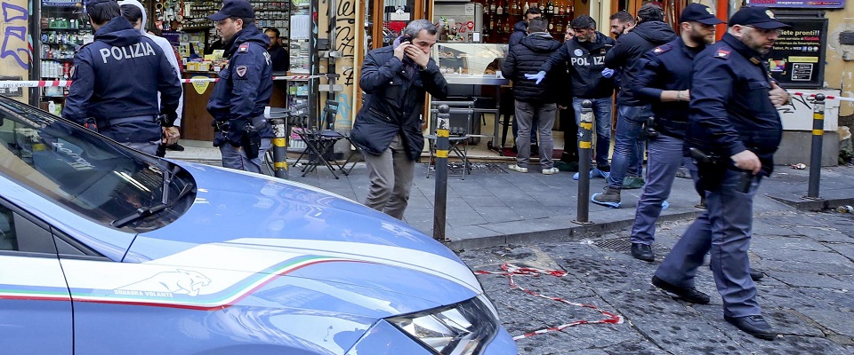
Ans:
[{"label": "yellow-banded metal bollard just left of man in blue shoe covers", "polygon": [[578,225],[592,225],[590,222],[590,157],[593,138],[593,103],[585,99],[581,103],[581,122],[578,125]]}]

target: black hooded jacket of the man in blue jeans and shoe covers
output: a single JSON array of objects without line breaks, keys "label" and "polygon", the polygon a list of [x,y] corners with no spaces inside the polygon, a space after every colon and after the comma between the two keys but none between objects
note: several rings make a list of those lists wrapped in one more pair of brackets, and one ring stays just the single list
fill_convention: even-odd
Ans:
[{"label": "black hooded jacket of the man in blue jeans and shoe covers", "polygon": [[614,44],[614,49],[605,56],[605,66],[623,69],[619,82],[623,85],[616,95],[619,106],[649,105],[648,101],[640,100],[632,92],[632,81],[640,72],[638,59],[646,51],[676,39],[676,33],[670,25],[661,21],[641,22],[632,31],[620,36]]}]

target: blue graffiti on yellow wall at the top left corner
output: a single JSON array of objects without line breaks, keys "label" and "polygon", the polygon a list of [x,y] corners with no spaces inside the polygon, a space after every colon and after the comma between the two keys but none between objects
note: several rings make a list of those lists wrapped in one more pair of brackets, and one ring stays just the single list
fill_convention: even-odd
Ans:
[{"label": "blue graffiti on yellow wall at the top left corner", "polygon": [[27,41],[27,8],[4,1],[0,30],[3,32],[3,44],[0,46],[0,59],[11,59],[21,69],[29,70],[29,43]]}]

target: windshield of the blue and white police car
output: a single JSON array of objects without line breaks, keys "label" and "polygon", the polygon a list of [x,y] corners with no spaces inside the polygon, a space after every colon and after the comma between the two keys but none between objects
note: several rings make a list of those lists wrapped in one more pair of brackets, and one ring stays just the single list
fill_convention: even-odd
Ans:
[{"label": "windshield of the blue and white police car", "polygon": [[138,233],[172,223],[195,200],[188,171],[2,96],[0,174],[83,217],[121,219],[114,225]]}]

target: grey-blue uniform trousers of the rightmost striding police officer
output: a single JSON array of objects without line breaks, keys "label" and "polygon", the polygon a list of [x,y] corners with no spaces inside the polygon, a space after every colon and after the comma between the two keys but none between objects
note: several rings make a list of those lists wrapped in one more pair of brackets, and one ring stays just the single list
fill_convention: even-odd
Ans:
[{"label": "grey-blue uniform trousers of the rightmost striding police officer", "polygon": [[[688,164],[686,164],[688,165]],[[697,183],[697,168],[689,165]],[[750,237],[753,226],[753,195],[761,178],[754,177],[747,193],[737,191],[741,172],[727,170],[721,182],[705,192],[706,210],[697,217],[656,270],[656,276],[683,288],[694,287],[697,268],[711,253],[712,274],[723,298],[723,314],[729,317],[760,315],[756,284],[750,279]]]}]

